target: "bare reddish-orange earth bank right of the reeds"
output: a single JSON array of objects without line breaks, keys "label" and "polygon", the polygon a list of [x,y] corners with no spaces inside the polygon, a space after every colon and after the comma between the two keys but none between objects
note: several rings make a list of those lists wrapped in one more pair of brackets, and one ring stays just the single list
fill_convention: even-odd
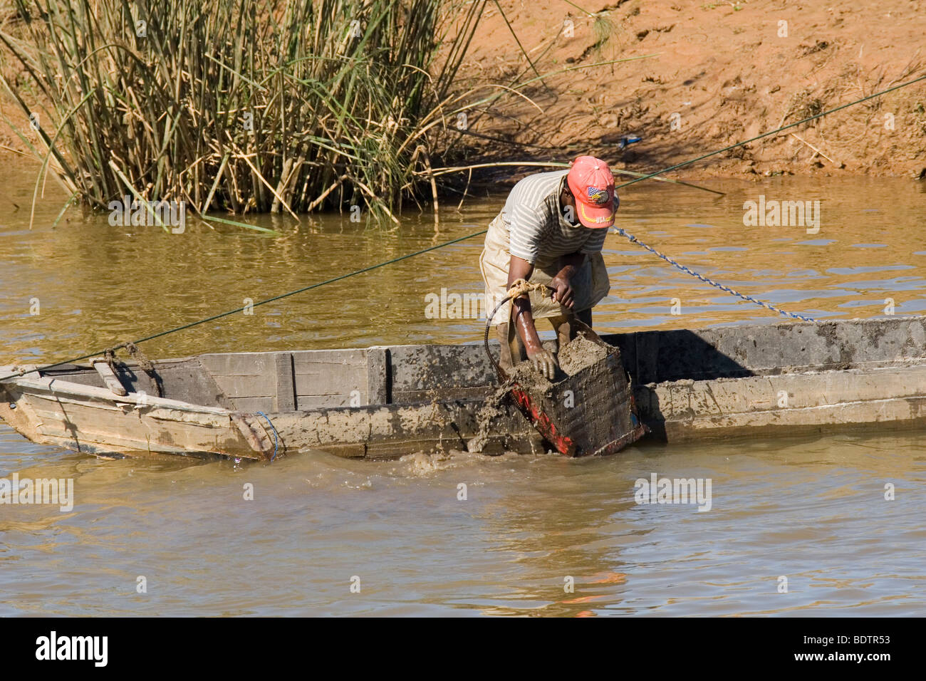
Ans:
[{"label": "bare reddish-orange earth bank right of the reeds", "polygon": [[[572,70],[524,91],[536,107],[509,96],[471,115],[476,134],[464,135],[462,157],[593,153],[619,167],[657,170],[926,73],[921,0],[577,5],[594,16],[566,2],[501,2],[539,73]],[[533,77],[494,7],[465,67],[470,82]],[[625,134],[643,142],[621,152]],[[917,83],[676,176],[924,173],[926,83]]]}]

